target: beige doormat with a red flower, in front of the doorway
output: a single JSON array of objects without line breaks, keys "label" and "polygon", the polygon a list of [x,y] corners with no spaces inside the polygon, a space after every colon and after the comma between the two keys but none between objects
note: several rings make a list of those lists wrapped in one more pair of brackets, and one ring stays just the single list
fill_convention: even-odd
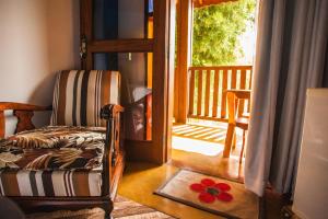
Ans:
[{"label": "beige doormat with a red flower, in front of the doorway", "polygon": [[179,170],[156,195],[225,218],[259,218],[259,198],[244,184]]}]

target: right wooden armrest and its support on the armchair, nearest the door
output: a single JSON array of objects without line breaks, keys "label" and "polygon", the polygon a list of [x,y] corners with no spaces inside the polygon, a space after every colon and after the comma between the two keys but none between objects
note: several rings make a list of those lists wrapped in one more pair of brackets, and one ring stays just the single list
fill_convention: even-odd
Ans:
[{"label": "right wooden armrest and its support on the armchair, nearest the door", "polygon": [[106,139],[103,158],[103,196],[110,195],[114,185],[115,170],[118,169],[117,161],[122,158],[121,148],[121,116],[124,107],[108,104],[102,107],[101,118],[106,119]]}]

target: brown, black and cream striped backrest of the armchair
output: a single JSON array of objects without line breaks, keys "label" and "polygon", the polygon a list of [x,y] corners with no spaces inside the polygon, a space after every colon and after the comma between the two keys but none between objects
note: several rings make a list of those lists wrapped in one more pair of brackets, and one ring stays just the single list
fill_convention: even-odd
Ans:
[{"label": "brown, black and cream striped backrest of the armchair", "polygon": [[120,74],[105,70],[67,70],[57,74],[51,125],[105,126],[101,107],[120,103]]}]

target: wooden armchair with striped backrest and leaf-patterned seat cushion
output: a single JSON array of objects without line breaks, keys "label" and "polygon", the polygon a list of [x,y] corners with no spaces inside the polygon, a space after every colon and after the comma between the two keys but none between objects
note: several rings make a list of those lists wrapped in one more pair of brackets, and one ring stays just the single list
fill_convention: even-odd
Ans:
[{"label": "wooden armchair with striped backrest and leaf-patterned seat cushion", "polygon": [[[52,107],[0,102],[0,195],[25,211],[102,207],[110,217],[124,169],[120,74],[61,71]],[[4,137],[4,111],[17,117]],[[49,126],[35,129],[34,111],[51,110]]]}]

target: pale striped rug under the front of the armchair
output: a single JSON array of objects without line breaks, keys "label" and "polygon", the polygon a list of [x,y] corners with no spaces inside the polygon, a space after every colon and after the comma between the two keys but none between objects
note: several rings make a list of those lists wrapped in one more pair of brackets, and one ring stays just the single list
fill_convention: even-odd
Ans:
[{"label": "pale striped rug under the front of the armchair", "polygon": [[[28,215],[27,219],[103,219],[105,211],[101,208],[82,209],[78,211],[59,210]],[[117,196],[112,212],[114,219],[174,219],[155,209],[149,208],[122,196]]]}]

